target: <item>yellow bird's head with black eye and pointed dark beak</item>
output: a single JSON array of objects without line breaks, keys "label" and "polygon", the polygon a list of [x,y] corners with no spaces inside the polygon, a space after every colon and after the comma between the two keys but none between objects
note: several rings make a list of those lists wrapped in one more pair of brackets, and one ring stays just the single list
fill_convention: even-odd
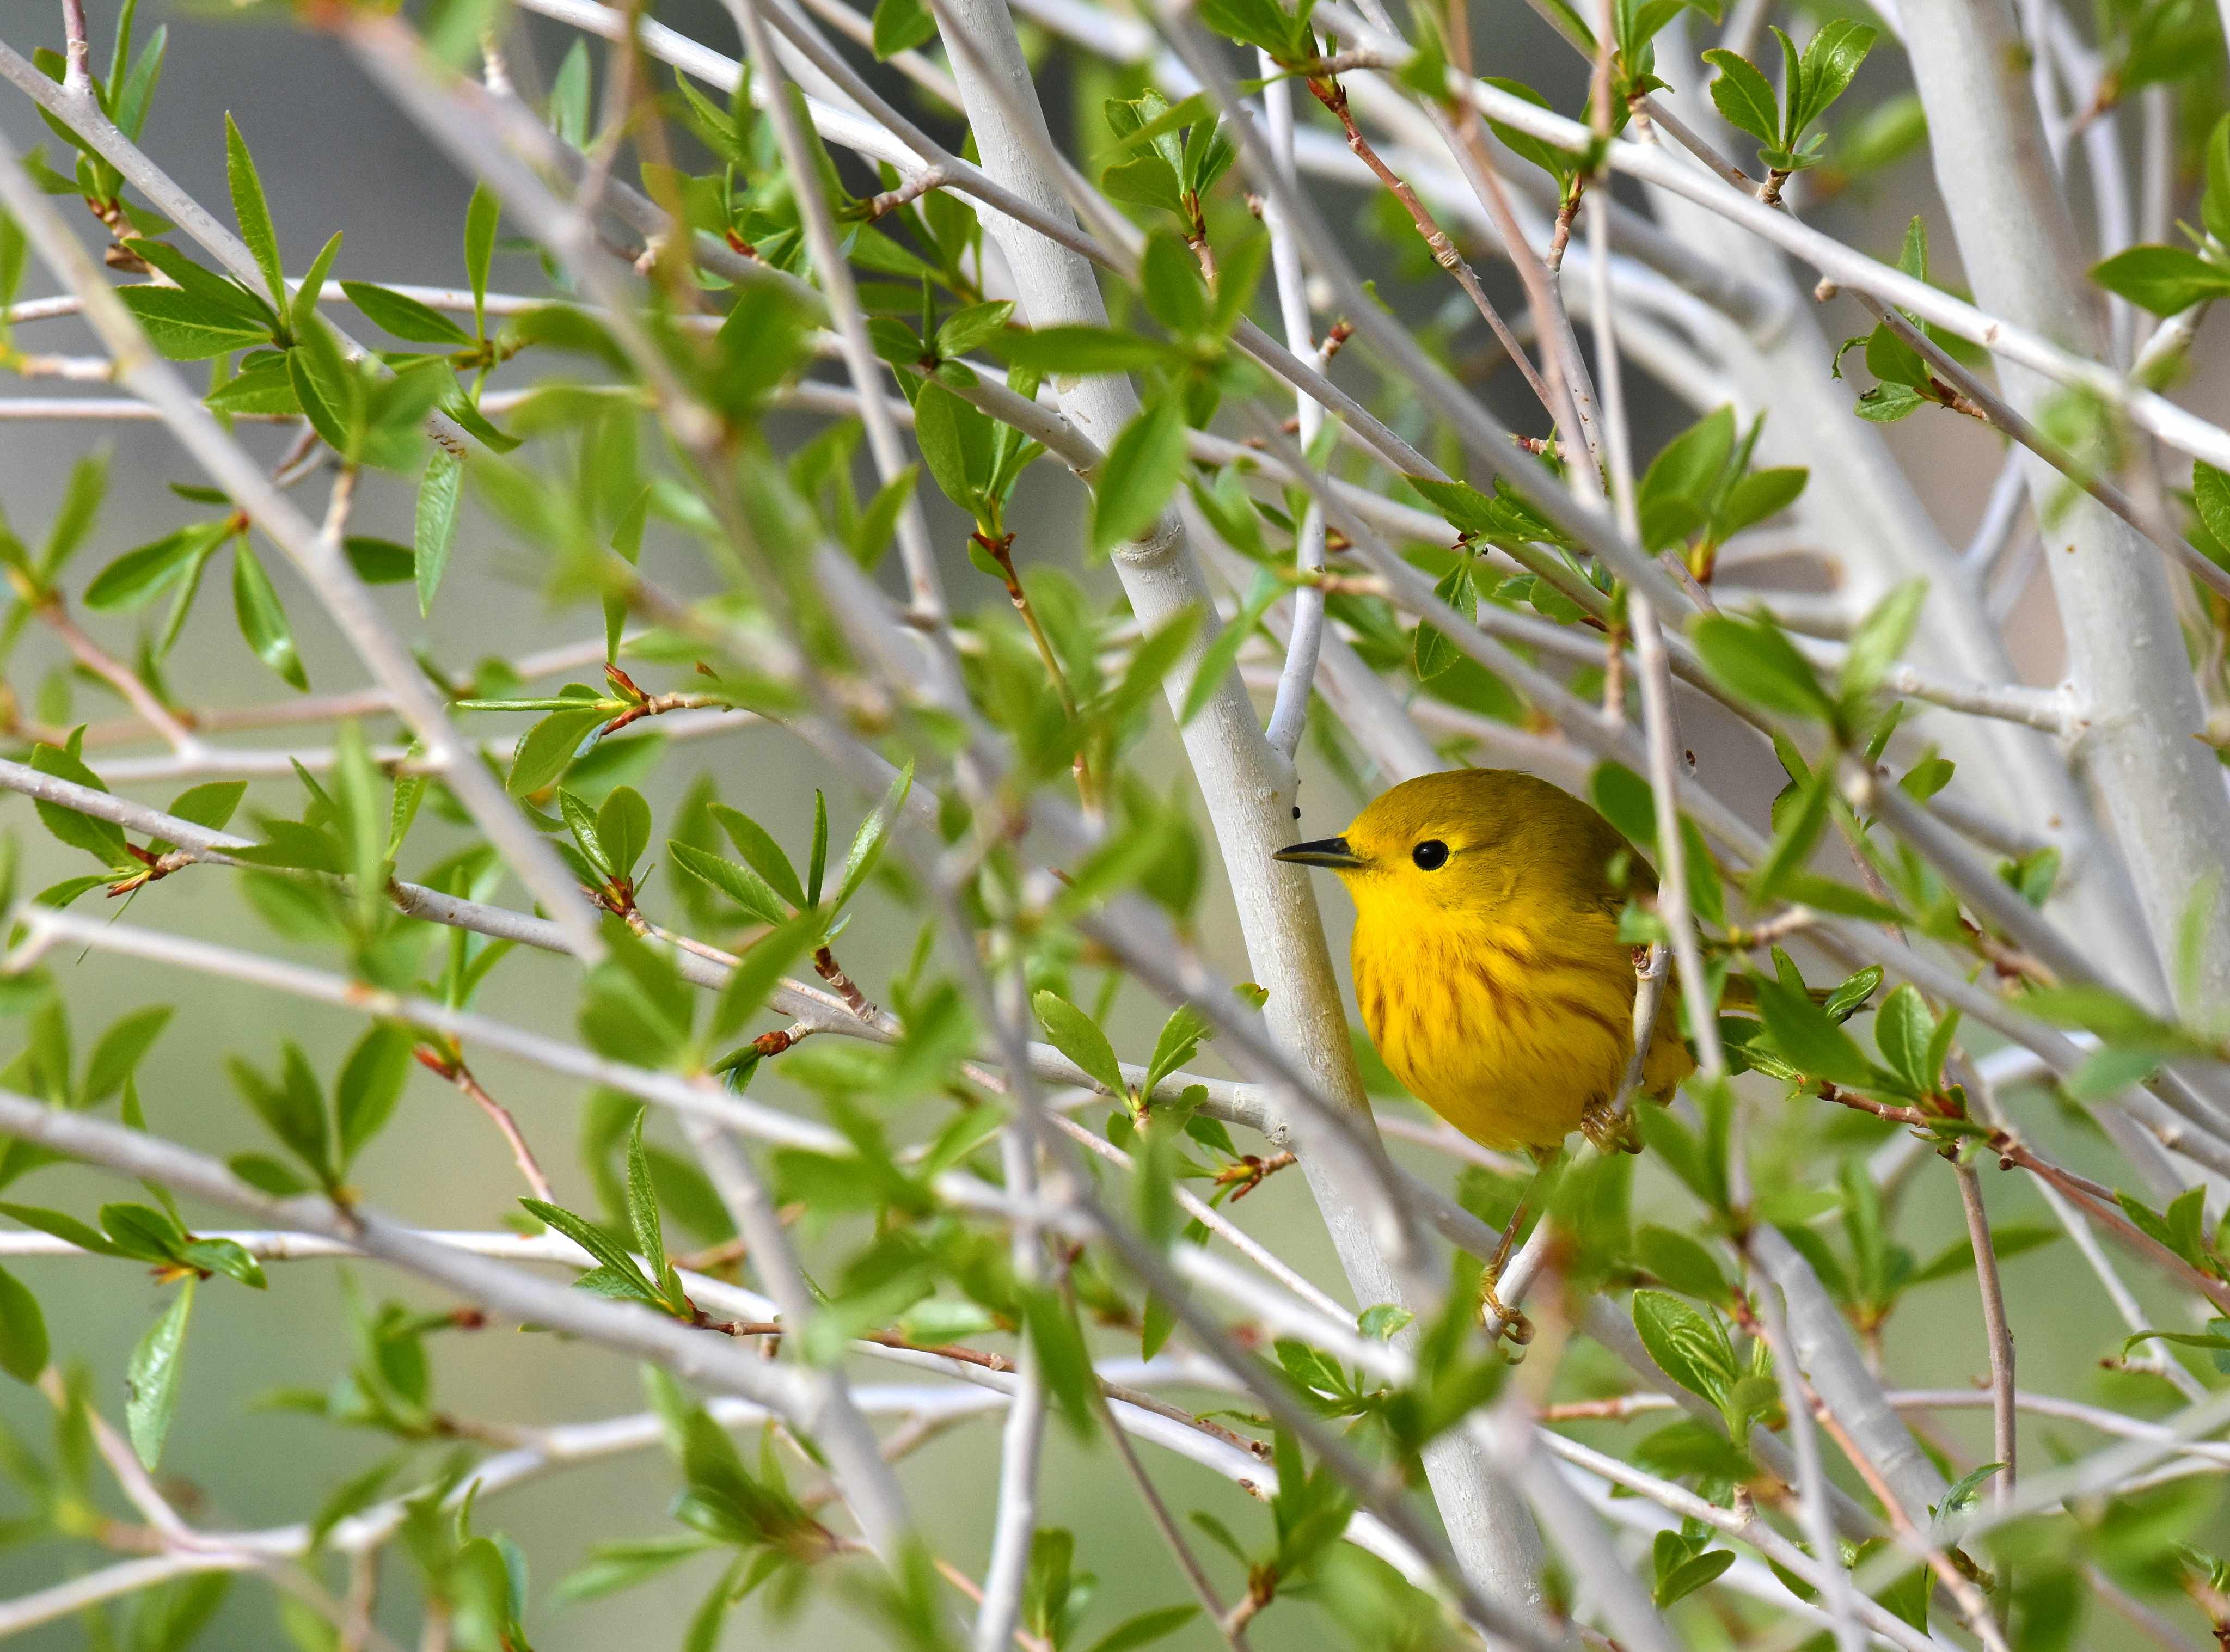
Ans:
[{"label": "yellow bird's head with black eye and pointed dark beak", "polygon": [[[1425,774],[1380,794],[1336,838],[1278,849],[1331,867],[1360,912],[1490,912],[1512,901],[1599,903],[1630,847],[1570,791],[1516,769]],[[1632,878],[1655,887],[1639,856]]]}]

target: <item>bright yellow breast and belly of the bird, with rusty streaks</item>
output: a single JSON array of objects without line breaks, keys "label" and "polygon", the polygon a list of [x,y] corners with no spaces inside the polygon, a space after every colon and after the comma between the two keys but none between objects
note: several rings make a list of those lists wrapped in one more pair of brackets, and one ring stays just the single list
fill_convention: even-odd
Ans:
[{"label": "bright yellow breast and belly of the bird, with rusty streaks", "polygon": [[[1617,1095],[1635,1043],[1632,952],[1615,919],[1528,907],[1358,903],[1351,963],[1371,1041],[1412,1095],[1494,1148],[1563,1141]],[[1690,1068],[1672,1021],[1661,1014],[1650,1041],[1650,1095]]]}]

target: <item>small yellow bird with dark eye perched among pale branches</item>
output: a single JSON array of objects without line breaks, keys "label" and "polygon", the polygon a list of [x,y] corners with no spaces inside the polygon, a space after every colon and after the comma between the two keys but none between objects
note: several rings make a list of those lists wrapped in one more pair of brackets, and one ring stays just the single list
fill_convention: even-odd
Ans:
[{"label": "small yellow bird with dark eye perched among pale branches", "polygon": [[[1610,865],[1657,878],[1603,816],[1512,769],[1407,780],[1340,838],[1282,861],[1329,865],[1356,901],[1356,1001],[1412,1095],[1492,1148],[1554,1148],[1608,1104],[1635,1048],[1635,959]],[[1641,1090],[1695,1070],[1666,1008]]]}]

